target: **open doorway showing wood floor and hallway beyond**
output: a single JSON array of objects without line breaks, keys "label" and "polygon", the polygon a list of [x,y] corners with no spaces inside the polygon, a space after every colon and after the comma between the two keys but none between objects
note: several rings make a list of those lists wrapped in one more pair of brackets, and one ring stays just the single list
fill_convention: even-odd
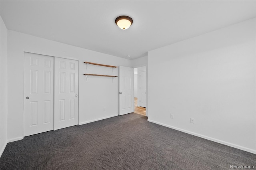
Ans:
[{"label": "open doorway showing wood floor and hallway beyond", "polygon": [[134,68],[134,113],[146,116],[146,67]]}]

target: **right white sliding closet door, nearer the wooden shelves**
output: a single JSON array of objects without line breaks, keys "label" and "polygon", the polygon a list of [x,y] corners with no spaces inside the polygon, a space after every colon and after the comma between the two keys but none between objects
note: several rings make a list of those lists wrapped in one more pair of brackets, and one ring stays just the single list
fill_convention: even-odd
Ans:
[{"label": "right white sliding closet door, nearer the wooden shelves", "polygon": [[54,130],[78,125],[78,61],[55,57]]}]

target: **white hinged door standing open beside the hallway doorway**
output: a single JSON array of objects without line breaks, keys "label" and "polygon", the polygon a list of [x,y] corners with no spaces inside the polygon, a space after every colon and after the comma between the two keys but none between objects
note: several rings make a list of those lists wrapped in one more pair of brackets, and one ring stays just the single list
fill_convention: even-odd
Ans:
[{"label": "white hinged door standing open beside the hallway doorway", "polygon": [[133,68],[119,67],[119,115],[133,112]]}]

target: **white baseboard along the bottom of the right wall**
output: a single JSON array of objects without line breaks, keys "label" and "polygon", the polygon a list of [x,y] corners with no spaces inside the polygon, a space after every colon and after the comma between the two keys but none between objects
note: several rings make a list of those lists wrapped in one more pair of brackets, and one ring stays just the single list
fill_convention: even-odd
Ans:
[{"label": "white baseboard along the bottom of the right wall", "polygon": [[152,123],[156,123],[158,125],[162,125],[164,127],[168,127],[168,128],[172,128],[172,129],[175,129],[175,130],[179,130],[179,131],[182,131],[182,132],[185,132],[185,133],[188,133],[188,134],[192,134],[194,136],[198,136],[200,138],[204,138],[204,139],[207,139],[207,140],[211,140],[211,141],[214,141],[214,142],[217,142],[217,143],[221,143],[221,144],[224,144],[224,145],[227,145],[227,146],[231,146],[233,148],[237,148],[237,149],[240,149],[240,150],[244,150],[244,151],[256,154],[256,150],[253,150],[253,149],[250,149],[250,148],[246,148],[244,146],[240,146],[240,145],[237,145],[237,144],[232,144],[230,142],[225,142],[223,140],[219,140],[219,139],[216,139],[216,138],[212,138],[212,137],[209,137],[209,136],[205,136],[205,135],[202,135],[202,134],[198,134],[198,133],[195,133],[195,132],[184,130],[182,128],[177,128],[177,127],[173,127],[173,126],[170,126],[170,125],[166,125],[164,123],[159,123],[159,122],[156,122],[156,121],[152,121],[150,119],[148,119],[148,121],[152,122]]}]

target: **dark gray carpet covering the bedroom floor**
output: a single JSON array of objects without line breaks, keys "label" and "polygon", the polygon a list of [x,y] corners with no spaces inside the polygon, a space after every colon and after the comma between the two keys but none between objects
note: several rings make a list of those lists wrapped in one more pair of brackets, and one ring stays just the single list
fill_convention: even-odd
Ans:
[{"label": "dark gray carpet covering the bedroom floor", "polygon": [[[131,113],[8,143],[1,170],[212,170],[254,165],[256,154]],[[255,169],[254,168],[254,169]]]}]

